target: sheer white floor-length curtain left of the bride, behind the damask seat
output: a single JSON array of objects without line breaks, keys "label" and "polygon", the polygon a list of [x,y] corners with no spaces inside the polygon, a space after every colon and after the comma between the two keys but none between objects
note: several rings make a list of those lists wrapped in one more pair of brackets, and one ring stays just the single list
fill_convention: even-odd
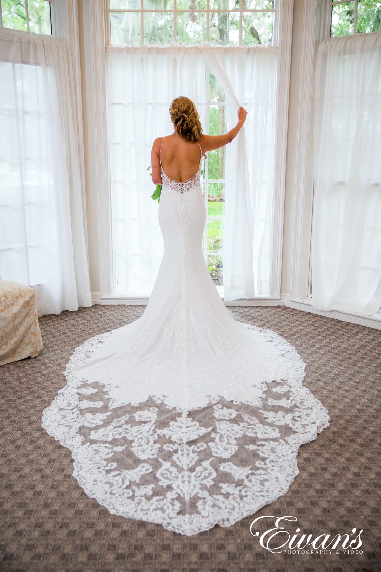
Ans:
[{"label": "sheer white floor-length curtain left of the bride, behind the damask seat", "polygon": [[0,28],[0,275],[39,315],[91,305],[69,44]]}]

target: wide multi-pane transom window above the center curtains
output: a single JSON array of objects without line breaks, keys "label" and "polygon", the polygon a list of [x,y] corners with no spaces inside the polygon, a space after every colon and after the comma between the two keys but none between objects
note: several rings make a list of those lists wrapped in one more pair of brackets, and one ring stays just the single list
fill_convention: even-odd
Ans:
[{"label": "wide multi-pane transom window above the center curtains", "polygon": [[274,0],[109,0],[113,45],[272,42]]}]

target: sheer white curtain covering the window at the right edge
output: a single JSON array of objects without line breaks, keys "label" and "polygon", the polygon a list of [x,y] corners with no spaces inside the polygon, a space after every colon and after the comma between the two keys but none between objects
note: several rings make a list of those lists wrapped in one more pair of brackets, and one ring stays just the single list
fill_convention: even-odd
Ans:
[{"label": "sheer white curtain covering the window at the right edge", "polygon": [[320,43],[315,92],[314,308],[381,305],[381,34]]}]

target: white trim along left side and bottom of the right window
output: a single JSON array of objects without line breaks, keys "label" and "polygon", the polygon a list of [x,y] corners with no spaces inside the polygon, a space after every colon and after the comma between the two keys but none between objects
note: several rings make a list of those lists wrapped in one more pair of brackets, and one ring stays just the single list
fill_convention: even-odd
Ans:
[{"label": "white trim along left side and bottom of the right window", "polygon": [[372,317],[364,317],[346,312],[317,311],[312,308],[311,235],[312,205],[314,200],[314,180],[312,177],[313,149],[311,142],[313,126],[312,101],[316,55],[320,41],[330,37],[331,6],[331,0],[309,0],[304,2],[303,33],[300,43],[296,164],[293,185],[295,196],[291,220],[290,292],[284,293],[283,299],[284,304],[291,308],[381,329],[381,313]]}]

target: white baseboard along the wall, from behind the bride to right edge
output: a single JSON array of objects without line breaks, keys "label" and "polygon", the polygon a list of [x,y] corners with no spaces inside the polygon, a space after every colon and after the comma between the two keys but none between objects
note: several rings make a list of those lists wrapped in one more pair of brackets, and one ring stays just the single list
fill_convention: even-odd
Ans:
[{"label": "white baseboard along the wall, from behind the bride to right edge", "polygon": [[[127,298],[121,296],[103,296],[100,292],[91,292],[91,303],[100,305],[147,305],[149,298],[137,297]],[[339,312],[332,310],[324,312],[312,308],[311,298],[304,298],[303,300],[292,300],[287,293],[281,294],[280,298],[255,298],[250,300],[234,300],[225,302],[223,297],[222,301],[226,306],[286,306],[287,308],[294,308],[302,312],[311,312],[319,316],[325,316],[334,320],[348,321],[352,324],[364,325],[368,328],[381,329],[381,312],[377,312],[374,316],[362,316],[360,314],[350,314],[346,312]]]}]

